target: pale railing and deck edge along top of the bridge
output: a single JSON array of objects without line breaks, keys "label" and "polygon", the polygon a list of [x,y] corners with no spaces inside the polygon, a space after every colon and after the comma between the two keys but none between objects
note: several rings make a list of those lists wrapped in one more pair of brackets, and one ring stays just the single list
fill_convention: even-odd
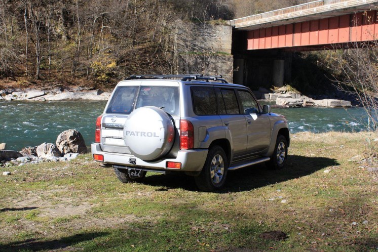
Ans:
[{"label": "pale railing and deck edge along top of the bridge", "polygon": [[306,4],[287,7],[275,11],[264,12],[244,18],[231,20],[235,28],[270,23],[279,20],[304,17],[312,14],[319,14],[345,8],[353,8],[363,5],[378,4],[377,0],[319,0]]}]

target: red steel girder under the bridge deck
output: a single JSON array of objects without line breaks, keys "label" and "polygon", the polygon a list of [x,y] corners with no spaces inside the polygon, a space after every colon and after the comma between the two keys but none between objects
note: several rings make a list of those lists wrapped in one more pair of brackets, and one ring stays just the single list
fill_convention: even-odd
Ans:
[{"label": "red steel girder under the bridge deck", "polygon": [[378,39],[377,11],[247,31],[247,50],[327,46]]}]

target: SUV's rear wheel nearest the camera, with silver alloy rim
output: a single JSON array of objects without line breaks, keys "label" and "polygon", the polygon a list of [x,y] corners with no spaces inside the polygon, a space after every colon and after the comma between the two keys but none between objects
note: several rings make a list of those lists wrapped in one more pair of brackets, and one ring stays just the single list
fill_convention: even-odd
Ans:
[{"label": "SUV's rear wheel nearest the camera, with silver alloy rim", "polygon": [[207,154],[202,172],[194,178],[197,187],[205,192],[219,190],[226,181],[228,167],[224,150],[217,145],[212,147]]}]

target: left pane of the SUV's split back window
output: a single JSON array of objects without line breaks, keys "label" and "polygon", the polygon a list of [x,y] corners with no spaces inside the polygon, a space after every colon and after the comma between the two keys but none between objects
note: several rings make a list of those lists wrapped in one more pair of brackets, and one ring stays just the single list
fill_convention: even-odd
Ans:
[{"label": "left pane of the SUV's split back window", "polygon": [[130,114],[138,87],[118,87],[111,98],[106,113]]}]

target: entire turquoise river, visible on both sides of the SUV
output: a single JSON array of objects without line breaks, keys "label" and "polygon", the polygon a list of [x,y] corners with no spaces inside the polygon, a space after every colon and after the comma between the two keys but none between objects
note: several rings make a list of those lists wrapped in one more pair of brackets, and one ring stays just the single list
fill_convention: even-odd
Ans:
[{"label": "entire turquoise river, visible on both sides of the SUV", "polygon": [[[2,129],[0,143],[9,150],[55,143],[58,135],[68,129],[78,130],[89,146],[94,142],[96,118],[106,102],[0,102]],[[358,132],[367,130],[367,120],[361,108],[272,108],[272,112],[286,116],[291,133],[310,131]]]}]

